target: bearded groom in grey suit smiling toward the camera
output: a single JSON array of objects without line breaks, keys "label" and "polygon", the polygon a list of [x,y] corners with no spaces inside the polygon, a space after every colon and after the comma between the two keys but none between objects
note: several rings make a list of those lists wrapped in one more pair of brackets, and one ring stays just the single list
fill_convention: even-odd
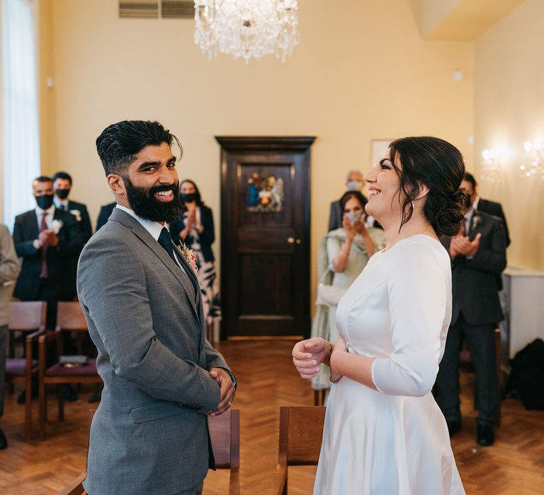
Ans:
[{"label": "bearded groom in grey suit smiling toward the camera", "polygon": [[104,381],[84,482],[91,495],[202,491],[208,417],[234,376],[204,335],[195,272],[164,226],[181,217],[176,136],[124,121],[96,139],[117,206],[79,259],[77,289]]}]

